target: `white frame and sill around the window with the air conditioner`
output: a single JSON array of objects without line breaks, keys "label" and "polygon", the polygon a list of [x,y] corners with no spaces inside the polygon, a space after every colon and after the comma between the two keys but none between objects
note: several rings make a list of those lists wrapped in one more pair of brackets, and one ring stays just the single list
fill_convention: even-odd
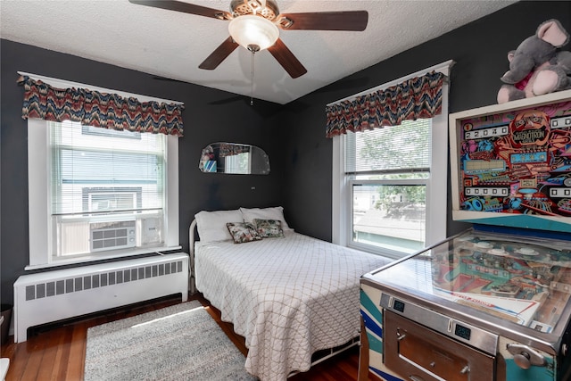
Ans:
[{"label": "white frame and sill around the window with the air conditioner", "polygon": [[178,137],[168,136],[165,155],[165,234],[164,244],[136,249],[118,249],[78,256],[55,257],[54,235],[50,235],[51,200],[49,128],[46,120],[28,120],[29,186],[29,265],[25,269],[42,269],[88,261],[128,257],[138,254],[178,250]]}]

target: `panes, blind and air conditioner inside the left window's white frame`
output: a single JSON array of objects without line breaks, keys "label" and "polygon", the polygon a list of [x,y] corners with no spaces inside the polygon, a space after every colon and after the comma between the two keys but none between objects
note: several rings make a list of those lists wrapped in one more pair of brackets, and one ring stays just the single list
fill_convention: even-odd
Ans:
[{"label": "panes, blind and air conditioner inside the left window's white frame", "polygon": [[47,122],[53,253],[163,243],[163,134]]}]

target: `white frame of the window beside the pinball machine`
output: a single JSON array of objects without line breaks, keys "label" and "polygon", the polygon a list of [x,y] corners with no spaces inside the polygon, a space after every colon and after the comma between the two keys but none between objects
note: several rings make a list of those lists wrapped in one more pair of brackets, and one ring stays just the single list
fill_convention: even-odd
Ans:
[{"label": "white frame of the window beside the pinball machine", "polygon": [[[407,79],[424,75],[426,72],[432,70],[443,72],[445,76],[449,76],[452,63],[453,62],[450,61],[443,62],[440,65],[433,66],[426,70],[419,70],[409,76],[395,79],[392,82],[375,87],[374,89],[369,89],[363,92],[363,94],[394,86]],[[411,180],[415,183],[426,181],[426,246],[436,244],[447,236],[449,150],[448,92],[449,85],[447,81],[444,81],[442,113],[432,118],[430,176],[426,179]],[[344,138],[345,135],[333,137],[332,242],[368,253],[382,254],[391,258],[402,258],[409,255],[409,253],[395,252],[371,244],[362,244],[352,241],[352,184],[354,184],[355,181],[362,183],[365,180],[353,180],[349,175],[345,175]],[[381,181],[386,180],[367,180],[369,184],[380,184]],[[410,180],[399,180],[399,184],[407,185],[405,181]]]}]

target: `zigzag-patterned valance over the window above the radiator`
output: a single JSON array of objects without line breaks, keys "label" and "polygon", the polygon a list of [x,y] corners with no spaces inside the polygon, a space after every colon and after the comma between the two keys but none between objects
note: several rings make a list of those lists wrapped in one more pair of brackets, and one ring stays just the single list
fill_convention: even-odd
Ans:
[{"label": "zigzag-patterned valance over the window above the radiator", "polygon": [[22,119],[71,120],[86,126],[183,135],[184,104],[140,102],[87,88],[55,88],[28,76],[21,76],[18,84],[24,87]]}]

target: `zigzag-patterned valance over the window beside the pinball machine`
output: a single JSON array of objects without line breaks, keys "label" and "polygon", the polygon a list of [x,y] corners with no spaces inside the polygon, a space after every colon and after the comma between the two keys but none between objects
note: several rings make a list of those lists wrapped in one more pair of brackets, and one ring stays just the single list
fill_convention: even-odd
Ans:
[{"label": "zigzag-patterned valance over the window beside the pinball machine", "polygon": [[442,112],[442,72],[432,71],[399,85],[327,105],[327,137],[432,118]]}]

